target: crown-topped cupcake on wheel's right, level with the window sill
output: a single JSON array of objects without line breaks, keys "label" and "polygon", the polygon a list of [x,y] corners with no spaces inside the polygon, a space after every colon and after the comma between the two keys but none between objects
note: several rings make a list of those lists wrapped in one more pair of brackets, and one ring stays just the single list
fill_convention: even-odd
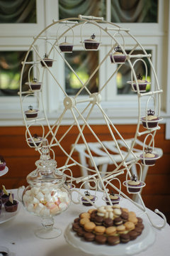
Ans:
[{"label": "crown-topped cupcake on wheel's right, level with the window sill", "polygon": [[142,117],[141,120],[143,127],[149,129],[157,127],[158,122],[162,120],[162,117],[155,116],[153,110],[147,110],[147,117]]}]

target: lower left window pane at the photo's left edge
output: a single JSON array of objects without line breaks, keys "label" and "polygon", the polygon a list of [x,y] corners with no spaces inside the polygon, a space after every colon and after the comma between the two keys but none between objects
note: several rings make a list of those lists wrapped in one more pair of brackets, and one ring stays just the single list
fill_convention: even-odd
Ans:
[{"label": "lower left window pane at the photo's left edge", "polygon": [[[16,96],[19,90],[21,62],[26,55],[26,51],[1,51],[0,52],[0,96]],[[33,60],[30,52],[28,60]],[[28,90],[28,70],[30,65],[26,65],[23,73],[23,91]],[[30,74],[30,79],[33,75]]]}]

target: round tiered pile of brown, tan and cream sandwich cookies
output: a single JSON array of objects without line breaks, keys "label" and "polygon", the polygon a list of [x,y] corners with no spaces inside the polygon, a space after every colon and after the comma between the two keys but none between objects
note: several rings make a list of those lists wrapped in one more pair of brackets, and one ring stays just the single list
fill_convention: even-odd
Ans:
[{"label": "round tiered pile of brown, tan and cream sandwich cookies", "polygon": [[81,213],[74,219],[72,230],[88,242],[118,245],[135,240],[142,233],[142,218],[119,205],[101,206]]}]

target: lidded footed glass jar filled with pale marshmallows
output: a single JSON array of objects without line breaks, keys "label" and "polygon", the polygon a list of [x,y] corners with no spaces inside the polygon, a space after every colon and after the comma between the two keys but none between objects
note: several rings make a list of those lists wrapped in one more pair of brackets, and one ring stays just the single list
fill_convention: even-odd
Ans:
[{"label": "lidded footed glass jar filled with pale marshmallows", "polygon": [[55,228],[54,216],[67,210],[71,202],[69,189],[64,185],[66,176],[56,169],[56,161],[50,158],[47,140],[42,141],[40,160],[35,162],[37,169],[27,176],[29,186],[23,191],[23,206],[29,213],[42,219],[42,227],[35,230],[38,238],[57,238],[62,234]]}]

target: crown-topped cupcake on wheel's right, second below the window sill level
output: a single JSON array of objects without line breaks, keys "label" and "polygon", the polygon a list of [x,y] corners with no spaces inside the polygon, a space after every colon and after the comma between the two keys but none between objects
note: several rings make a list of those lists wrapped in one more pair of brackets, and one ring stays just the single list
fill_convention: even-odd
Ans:
[{"label": "crown-topped cupcake on wheel's right, second below the window sill level", "polygon": [[159,154],[154,154],[152,152],[152,149],[149,147],[145,149],[145,153],[140,154],[140,160],[142,164],[147,166],[154,166],[155,162],[159,158],[160,158]]}]

